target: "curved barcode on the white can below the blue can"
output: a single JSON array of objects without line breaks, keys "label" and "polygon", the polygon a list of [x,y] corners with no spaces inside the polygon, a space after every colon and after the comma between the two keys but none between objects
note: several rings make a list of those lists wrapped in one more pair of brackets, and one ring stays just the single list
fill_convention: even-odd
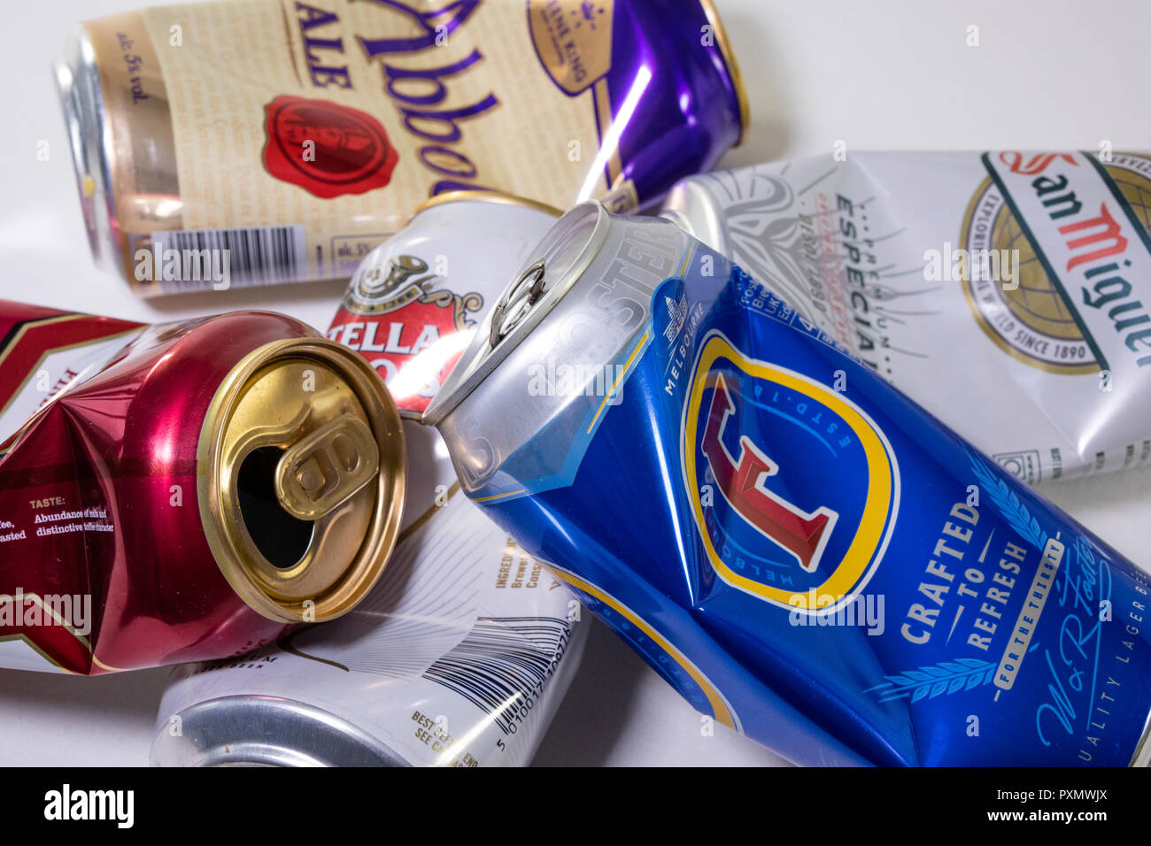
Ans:
[{"label": "curved barcode on the white can below the blue can", "polygon": [[571,624],[559,617],[480,617],[424,673],[470,700],[514,734],[563,657]]}]

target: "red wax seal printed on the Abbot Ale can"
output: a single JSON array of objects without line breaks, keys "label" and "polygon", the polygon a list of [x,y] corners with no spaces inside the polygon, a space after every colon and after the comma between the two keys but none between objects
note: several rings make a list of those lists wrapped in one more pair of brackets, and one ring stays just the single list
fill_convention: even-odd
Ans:
[{"label": "red wax seal printed on the Abbot Ale can", "polygon": [[323,199],[364,193],[391,181],[399,155],[366,112],[288,94],[265,112],[264,167],[277,180]]}]

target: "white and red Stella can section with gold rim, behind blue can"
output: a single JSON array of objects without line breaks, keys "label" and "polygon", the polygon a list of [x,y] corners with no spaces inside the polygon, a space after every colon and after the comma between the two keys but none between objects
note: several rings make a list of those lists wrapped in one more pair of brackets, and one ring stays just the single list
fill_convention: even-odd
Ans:
[{"label": "white and red Stella can section with gold rim, behind blue can", "polygon": [[418,419],[479,315],[562,214],[496,191],[433,197],[360,262],[328,337],[359,351],[399,413]]}]

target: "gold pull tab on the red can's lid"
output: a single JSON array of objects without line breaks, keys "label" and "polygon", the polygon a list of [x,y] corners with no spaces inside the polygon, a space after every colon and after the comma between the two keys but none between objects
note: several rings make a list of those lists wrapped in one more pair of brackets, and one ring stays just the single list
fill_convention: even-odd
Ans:
[{"label": "gold pull tab on the red can's lid", "polygon": [[276,497],[300,520],[318,520],[380,471],[380,448],[359,418],[342,414],[295,443],[276,465]]}]

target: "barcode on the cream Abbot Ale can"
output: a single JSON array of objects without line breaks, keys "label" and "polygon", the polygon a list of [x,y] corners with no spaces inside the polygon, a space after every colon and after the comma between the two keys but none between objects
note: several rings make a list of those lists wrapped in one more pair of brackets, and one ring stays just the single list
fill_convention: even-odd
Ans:
[{"label": "barcode on the cream Abbot Ale can", "polygon": [[[153,233],[160,250],[180,254],[178,272],[158,280],[166,290],[266,285],[307,277],[307,238],[299,224]],[[163,259],[167,261],[167,259]],[[174,279],[175,276],[175,279]]]}]

